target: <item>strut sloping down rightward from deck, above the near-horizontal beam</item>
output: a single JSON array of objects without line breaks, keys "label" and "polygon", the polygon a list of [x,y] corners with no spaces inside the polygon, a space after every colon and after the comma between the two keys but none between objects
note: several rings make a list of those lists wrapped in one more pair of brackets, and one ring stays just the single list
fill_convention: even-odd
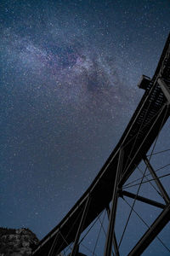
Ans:
[{"label": "strut sloping down rightward from deck, above the near-horizontal beam", "polygon": [[148,167],[151,176],[155,179],[156,185],[158,187],[158,189],[161,192],[161,195],[164,199],[164,201],[169,204],[170,203],[170,198],[167,195],[167,191],[164,189],[163,185],[161,184],[161,181],[159,180],[159,177],[157,177],[156,172],[154,171],[153,167],[150,165],[150,161],[147,159],[146,156],[144,156],[144,163],[146,164],[146,166]]}]

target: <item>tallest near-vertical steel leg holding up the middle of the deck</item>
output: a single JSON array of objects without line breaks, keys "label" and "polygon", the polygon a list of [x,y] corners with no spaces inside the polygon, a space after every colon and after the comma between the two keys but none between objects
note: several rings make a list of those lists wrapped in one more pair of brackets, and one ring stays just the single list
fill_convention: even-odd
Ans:
[{"label": "tallest near-vertical steel leg holding up the middle of the deck", "polygon": [[120,175],[122,172],[122,148],[119,151],[119,159],[116,168],[116,177],[113,187],[113,196],[112,196],[112,206],[111,206],[111,214],[110,214],[110,221],[109,227],[107,230],[106,242],[105,242],[105,256],[111,256],[111,249],[115,231],[115,220],[116,220],[116,206],[117,206],[117,198],[118,198],[118,183],[120,180]]}]

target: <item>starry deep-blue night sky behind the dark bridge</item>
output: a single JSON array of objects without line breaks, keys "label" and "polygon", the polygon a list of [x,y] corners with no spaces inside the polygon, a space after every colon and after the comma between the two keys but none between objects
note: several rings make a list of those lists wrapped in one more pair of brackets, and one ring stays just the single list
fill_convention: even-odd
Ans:
[{"label": "starry deep-blue night sky behind the dark bridge", "polygon": [[[42,239],[71,209],[122,136],[169,25],[169,0],[1,0],[1,226]],[[156,243],[144,255],[169,254]]]}]

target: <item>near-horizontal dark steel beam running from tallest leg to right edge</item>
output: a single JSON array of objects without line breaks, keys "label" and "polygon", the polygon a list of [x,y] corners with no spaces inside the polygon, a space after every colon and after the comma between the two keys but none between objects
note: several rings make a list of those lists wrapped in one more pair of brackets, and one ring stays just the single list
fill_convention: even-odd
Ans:
[{"label": "near-horizontal dark steel beam running from tallest leg to right edge", "polygon": [[161,208],[161,209],[164,209],[166,207],[166,205],[161,204],[160,202],[150,200],[150,199],[148,199],[148,198],[146,198],[144,196],[135,195],[135,194],[127,192],[125,190],[122,191],[121,195],[125,195],[127,197],[130,197],[130,198],[136,199],[138,201],[142,201],[144,203],[147,203],[150,206],[158,207],[158,208]]}]

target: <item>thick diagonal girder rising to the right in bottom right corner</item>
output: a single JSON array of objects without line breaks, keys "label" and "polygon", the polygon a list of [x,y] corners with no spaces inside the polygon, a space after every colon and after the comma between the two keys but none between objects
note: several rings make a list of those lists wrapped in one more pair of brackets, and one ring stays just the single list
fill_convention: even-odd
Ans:
[{"label": "thick diagonal girder rising to the right in bottom right corner", "polygon": [[150,245],[156,236],[161,232],[165,225],[170,220],[170,204],[161,212],[161,214],[156,218],[155,222],[150,226],[150,228],[144,233],[139,242],[133,247],[132,251],[128,253],[128,256],[141,255],[144,250]]}]

